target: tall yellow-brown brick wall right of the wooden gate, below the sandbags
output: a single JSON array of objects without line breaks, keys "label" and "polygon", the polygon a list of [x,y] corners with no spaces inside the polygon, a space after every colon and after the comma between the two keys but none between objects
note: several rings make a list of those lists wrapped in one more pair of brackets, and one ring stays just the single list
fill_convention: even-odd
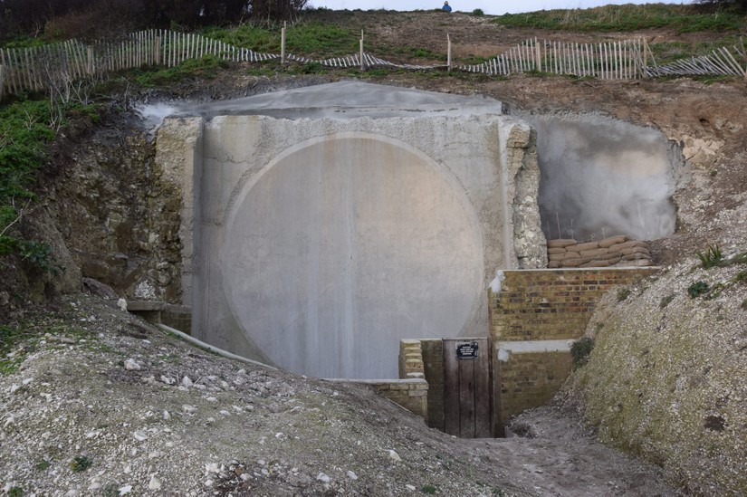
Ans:
[{"label": "tall yellow-brown brick wall right of the wooden gate, below the sandbags", "polygon": [[488,291],[498,423],[542,406],[570,375],[570,343],[583,336],[597,302],[656,268],[506,271]]}]

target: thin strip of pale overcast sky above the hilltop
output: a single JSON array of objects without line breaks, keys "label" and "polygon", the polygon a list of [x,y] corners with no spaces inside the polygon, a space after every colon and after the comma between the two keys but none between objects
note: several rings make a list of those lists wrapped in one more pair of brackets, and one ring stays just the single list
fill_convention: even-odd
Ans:
[{"label": "thin strip of pale overcast sky above the hilltop", "polygon": [[[534,12],[537,10],[551,9],[576,9],[589,8],[599,5],[611,4],[646,4],[639,0],[521,0],[521,1],[499,1],[499,0],[449,0],[449,5],[455,11],[472,12],[474,9],[483,9],[485,14],[516,14],[520,12]],[[659,0],[660,4],[689,4],[681,0]],[[327,7],[333,10],[340,9],[387,9],[387,10],[429,10],[444,5],[444,0],[309,0],[314,7]]]}]

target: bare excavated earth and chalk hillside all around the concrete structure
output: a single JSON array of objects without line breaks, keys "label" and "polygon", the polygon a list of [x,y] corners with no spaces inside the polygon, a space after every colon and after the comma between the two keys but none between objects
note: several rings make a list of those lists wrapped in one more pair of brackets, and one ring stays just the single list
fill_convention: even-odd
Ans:
[{"label": "bare excavated earth and chalk hillside all around the concrete structure", "polygon": [[[442,51],[448,32],[457,46],[463,42],[459,50],[476,55],[529,36],[581,37],[436,15],[365,21],[391,43],[433,51]],[[666,30],[582,38],[637,34],[678,39]],[[166,299],[178,298],[177,192],[155,166],[135,104],[228,99],[350,77],[248,69],[236,64],[168,89],[129,88],[114,95],[99,125],[83,119],[55,144],[39,180],[43,202],[26,222],[66,271],[45,279],[5,267],[0,285],[3,320],[24,330],[0,376],[0,492],[747,493],[745,81],[369,77],[490,95],[508,113],[623,119],[661,130],[683,150],[677,231],[651,241],[662,270],[607,296],[587,330],[596,340],[589,363],[552,406],[514,421],[525,437],[466,441],[428,429],[366,387],[219,358],[117,306],[120,296],[153,292],[133,287],[144,276]],[[713,267],[705,268],[696,255],[709,254],[709,246],[722,257],[712,250],[705,259]]]}]

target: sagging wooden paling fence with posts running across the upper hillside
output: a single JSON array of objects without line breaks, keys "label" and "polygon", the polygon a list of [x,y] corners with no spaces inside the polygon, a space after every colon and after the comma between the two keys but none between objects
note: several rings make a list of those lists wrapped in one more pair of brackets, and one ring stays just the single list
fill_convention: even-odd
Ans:
[{"label": "sagging wooden paling fence with posts running across the upper hillside", "polygon": [[489,75],[547,72],[628,80],[666,75],[735,75],[747,79],[747,53],[742,45],[721,47],[712,53],[657,65],[646,41],[604,43],[538,41],[518,43],[508,51],[477,64],[452,62],[452,42],[447,36],[445,64],[418,65],[389,62],[364,51],[363,33],[359,53],[329,59],[311,59],[285,53],[285,27],[281,53],[258,53],[196,33],[151,29],[130,34],[119,41],[81,43],[70,40],[34,48],[0,48],[0,99],[11,93],[45,91],[70,86],[72,81],[102,79],[110,72],[142,66],[173,67],[187,59],[212,55],[235,62],[318,63],[325,67],[390,68],[415,71],[461,71]]}]

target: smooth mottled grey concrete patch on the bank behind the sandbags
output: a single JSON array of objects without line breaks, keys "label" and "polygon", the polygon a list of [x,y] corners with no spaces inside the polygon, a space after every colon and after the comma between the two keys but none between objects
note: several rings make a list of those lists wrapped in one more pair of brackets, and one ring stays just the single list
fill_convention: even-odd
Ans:
[{"label": "smooth mottled grey concrete patch on the bank behind the sandbags", "polygon": [[537,131],[547,237],[656,240],[675,232],[671,198],[683,158],[660,131],[597,114],[516,114]]}]

